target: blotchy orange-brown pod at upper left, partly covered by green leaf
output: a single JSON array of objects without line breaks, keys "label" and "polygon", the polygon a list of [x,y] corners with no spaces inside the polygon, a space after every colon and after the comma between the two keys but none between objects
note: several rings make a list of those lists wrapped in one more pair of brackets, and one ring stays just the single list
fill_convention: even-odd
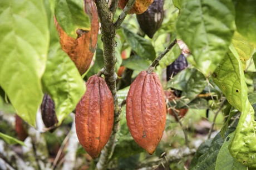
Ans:
[{"label": "blotchy orange-brown pod at upper left, partly covered by green leaf", "polygon": [[75,63],[81,75],[88,70],[91,64],[93,54],[96,50],[99,33],[98,13],[93,0],[85,0],[85,13],[91,19],[91,30],[84,32],[78,29],[78,37],[76,39],[69,37],[55,19],[55,25],[58,35],[60,36],[61,47]]}]

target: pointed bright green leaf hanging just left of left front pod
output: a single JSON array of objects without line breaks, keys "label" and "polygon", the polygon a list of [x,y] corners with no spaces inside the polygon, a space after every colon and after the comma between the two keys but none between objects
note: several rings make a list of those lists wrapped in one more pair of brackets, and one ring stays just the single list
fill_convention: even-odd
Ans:
[{"label": "pointed bright green leaf hanging just left of left front pod", "polygon": [[85,93],[85,83],[75,64],[61,49],[53,17],[50,23],[51,44],[42,84],[55,102],[58,125],[75,109]]}]

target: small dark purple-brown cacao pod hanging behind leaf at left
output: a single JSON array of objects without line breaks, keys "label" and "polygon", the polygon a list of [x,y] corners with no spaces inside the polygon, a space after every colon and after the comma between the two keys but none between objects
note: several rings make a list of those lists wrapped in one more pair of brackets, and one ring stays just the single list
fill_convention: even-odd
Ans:
[{"label": "small dark purple-brown cacao pod hanging behind leaf at left", "polygon": [[46,127],[52,128],[50,132],[53,132],[55,128],[53,128],[57,123],[57,117],[55,114],[55,104],[54,101],[48,94],[43,96],[43,102],[41,104],[41,114],[43,123]]}]

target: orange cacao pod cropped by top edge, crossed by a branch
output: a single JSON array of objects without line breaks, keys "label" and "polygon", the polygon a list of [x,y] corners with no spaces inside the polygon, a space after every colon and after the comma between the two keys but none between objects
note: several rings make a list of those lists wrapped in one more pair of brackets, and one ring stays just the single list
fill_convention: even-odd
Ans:
[{"label": "orange cacao pod cropped by top edge, crossed by a branch", "polygon": [[[126,3],[129,0],[119,0],[118,6],[121,9],[124,9],[126,6]],[[131,7],[130,11],[128,14],[142,14],[144,13],[147,8],[152,4],[154,0],[136,0],[134,2],[134,5]]]}]

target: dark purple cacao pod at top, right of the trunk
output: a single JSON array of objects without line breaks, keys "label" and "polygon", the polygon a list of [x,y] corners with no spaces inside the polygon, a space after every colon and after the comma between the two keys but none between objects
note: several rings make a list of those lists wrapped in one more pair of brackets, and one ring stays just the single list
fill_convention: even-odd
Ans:
[{"label": "dark purple cacao pod at top, right of the trunk", "polygon": [[155,32],[161,27],[164,20],[164,0],[154,0],[154,2],[142,14],[137,15],[137,21],[143,32],[153,38]]}]

